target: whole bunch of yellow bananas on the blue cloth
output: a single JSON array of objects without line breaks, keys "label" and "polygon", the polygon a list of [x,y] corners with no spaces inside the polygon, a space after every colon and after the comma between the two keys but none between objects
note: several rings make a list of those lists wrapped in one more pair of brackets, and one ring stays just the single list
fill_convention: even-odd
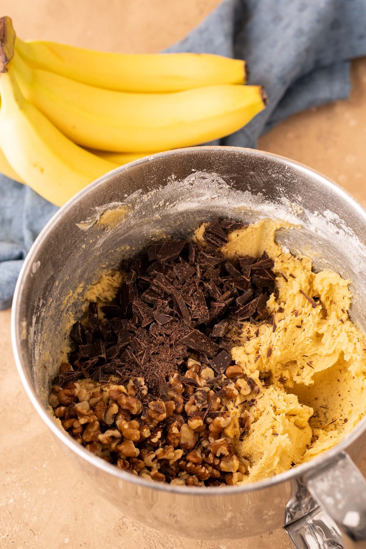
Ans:
[{"label": "whole bunch of yellow bananas on the blue cloth", "polygon": [[121,164],[229,135],[266,104],[236,59],[23,42],[8,17],[0,44],[0,171],[57,205]]}]

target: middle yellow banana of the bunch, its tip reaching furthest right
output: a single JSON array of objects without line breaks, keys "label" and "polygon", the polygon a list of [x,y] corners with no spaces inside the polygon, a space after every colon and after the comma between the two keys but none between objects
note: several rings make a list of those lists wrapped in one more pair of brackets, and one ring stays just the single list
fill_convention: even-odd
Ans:
[{"label": "middle yellow banana of the bunch, its tip reaching furthest right", "polygon": [[223,84],[173,93],[126,93],[31,69],[18,54],[22,93],[75,143],[138,153],[196,145],[245,126],[265,106],[260,86]]}]

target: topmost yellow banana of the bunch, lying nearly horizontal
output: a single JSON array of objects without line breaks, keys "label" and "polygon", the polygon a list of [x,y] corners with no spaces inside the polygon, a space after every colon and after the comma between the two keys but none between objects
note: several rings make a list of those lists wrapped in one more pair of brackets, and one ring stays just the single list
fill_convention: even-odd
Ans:
[{"label": "topmost yellow banana of the bunch, lying nearly horizontal", "polygon": [[221,55],[108,53],[18,37],[15,48],[33,68],[119,91],[175,92],[246,79],[245,61]]}]

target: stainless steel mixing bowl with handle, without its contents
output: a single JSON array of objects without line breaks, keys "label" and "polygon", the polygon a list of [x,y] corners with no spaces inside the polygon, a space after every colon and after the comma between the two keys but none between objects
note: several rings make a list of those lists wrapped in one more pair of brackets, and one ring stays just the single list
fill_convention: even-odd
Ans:
[{"label": "stainless steel mixing bowl with handle, without its contents", "polygon": [[[120,216],[115,228],[103,224],[105,210]],[[280,156],[229,147],[173,150],[99,178],[38,236],[13,304],[13,346],[22,383],[80,474],[87,474],[121,513],[144,524],[211,540],[284,526],[297,547],[340,547],[341,530],[345,546],[363,545],[366,484],[355,464],[364,455],[366,418],[312,462],[252,485],[202,489],[149,483],[106,463],[71,439],[49,412],[48,383],[59,367],[67,325],[72,315],[81,314],[78,298],[87,285],[123,254],[161,238],[162,231],[187,235],[199,220],[218,214],[301,223],[301,229],[281,232],[281,243],[311,254],[316,268],[350,278],[352,318],[366,326],[366,213],[349,195]]]}]

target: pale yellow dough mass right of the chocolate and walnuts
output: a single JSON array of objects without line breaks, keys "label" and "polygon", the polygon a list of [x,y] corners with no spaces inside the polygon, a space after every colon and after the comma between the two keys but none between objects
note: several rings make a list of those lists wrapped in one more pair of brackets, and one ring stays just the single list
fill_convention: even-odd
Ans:
[{"label": "pale yellow dough mass right of the chocolate and walnuts", "polygon": [[[350,281],[331,271],[314,273],[311,259],[283,252],[275,232],[284,226],[257,222],[230,233],[222,248],[229,258],[266,251],[274,260],[278,294],[267,302],[274,326],[243,322],[240,333],[232,333],[234,360],[260,386],[255,405],[239,407],[254,415],[249,433],[237,442],[250,462],[244,482],[272,477],[329,450],[366,412],[366,343],[348,317]],[[203,232],[204,227],[196,231],[198,242]],[[319,305],[313,307],[300,290],[319,298]],[[246,399],[239,395],[236,405]]]}]

